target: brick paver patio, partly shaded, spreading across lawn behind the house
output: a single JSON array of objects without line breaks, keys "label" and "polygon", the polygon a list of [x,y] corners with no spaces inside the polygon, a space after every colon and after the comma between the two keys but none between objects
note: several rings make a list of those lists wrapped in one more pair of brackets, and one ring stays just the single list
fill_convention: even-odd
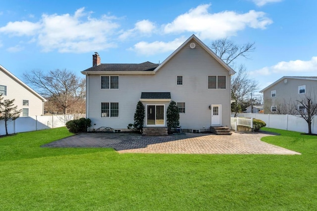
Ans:
[{"label": "brick paver patio, partly shaded, spreading across lawn behind the house", "polygon": [[42,147],[103,147],[119,153],[171,154],[276,154],[300,155],[261,141],[267,133],[181,133],[146,137],[131,133],[81,133],[51,142]]}]

